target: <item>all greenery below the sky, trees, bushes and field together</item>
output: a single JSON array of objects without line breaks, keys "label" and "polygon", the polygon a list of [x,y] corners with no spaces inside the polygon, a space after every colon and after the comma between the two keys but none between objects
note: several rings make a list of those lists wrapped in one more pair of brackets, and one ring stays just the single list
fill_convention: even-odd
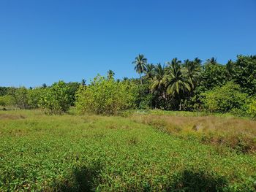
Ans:
[{"label": "all greenery below the sky, trees, bushes and field together", "polygon": [[132,64],[0,87],[0,191],[256,191],[256,55]]}]

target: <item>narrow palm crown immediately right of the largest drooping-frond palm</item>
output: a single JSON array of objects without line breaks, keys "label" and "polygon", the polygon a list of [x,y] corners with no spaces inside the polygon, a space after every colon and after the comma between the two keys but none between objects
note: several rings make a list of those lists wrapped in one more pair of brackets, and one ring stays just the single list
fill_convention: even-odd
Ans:
[{"label": "narrow palm crown immediately right of the largest drooping-frond palm", "polygon": [[200,77],[201,70],[201,60],[195,58],[194,61],[189,61],[188,59],[184,61],[184,74],[189,82],[191,89],[195,88]]}]

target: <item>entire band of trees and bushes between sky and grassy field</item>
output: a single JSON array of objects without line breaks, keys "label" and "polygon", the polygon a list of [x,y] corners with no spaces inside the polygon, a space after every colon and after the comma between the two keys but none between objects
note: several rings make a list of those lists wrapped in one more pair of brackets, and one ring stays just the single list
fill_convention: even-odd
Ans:
[{"label": "entire band of trees and bushes between sky and grassy field", "polygon": [[115,73],[109,70],[107,77],[97,76],[89,85],[82,80],[29,89],[0,87],[0,105],[41,107],[50,113],[66,112],[76,105],[80,111],[103,114],[135,107],[255,116],[256,55],[238,55],[227,64],[219,64],[216,58],[204,63],[199,58],[173,58],[164,65],[150,64],[138,55],[132,64],[138,79],[114,80]]}]

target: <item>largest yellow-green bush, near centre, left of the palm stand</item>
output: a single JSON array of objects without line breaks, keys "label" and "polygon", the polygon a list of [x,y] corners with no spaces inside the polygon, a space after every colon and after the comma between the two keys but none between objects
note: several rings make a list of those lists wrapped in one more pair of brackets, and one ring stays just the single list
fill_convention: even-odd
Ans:
[{"label": "largest yellow-green bush, near centre, left of the palm stand", "polygon": [[135,106],[136,86],[97,76],[89,86],[80,86],[75,103],[79,112],[113,115]]}]

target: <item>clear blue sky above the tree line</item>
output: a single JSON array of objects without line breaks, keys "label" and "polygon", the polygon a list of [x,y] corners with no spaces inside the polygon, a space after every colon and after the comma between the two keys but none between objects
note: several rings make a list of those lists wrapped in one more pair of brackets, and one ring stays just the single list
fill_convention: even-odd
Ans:
[{"label": "clear blue sky above the tree line", "polygon": [[0,86],[138,77],[138,53],[162,64],[256,54],[256,1],[0,1]]}]

